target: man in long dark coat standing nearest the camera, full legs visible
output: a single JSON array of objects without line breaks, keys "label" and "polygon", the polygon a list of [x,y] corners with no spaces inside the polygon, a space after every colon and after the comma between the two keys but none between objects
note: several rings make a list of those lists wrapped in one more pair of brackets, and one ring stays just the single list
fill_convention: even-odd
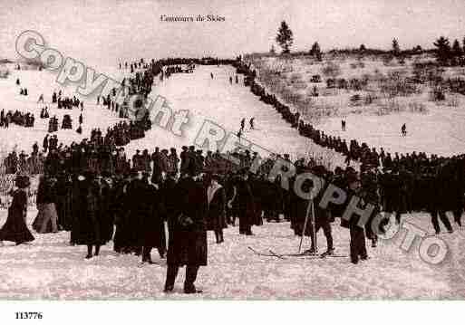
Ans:
[{"label": "man in long dark coat standing nearest the camera, full legs visible", "polygon": [[165,292],[172,292],[179,266],[187,265],[185,293],[199,293],[194,282],[201,265],[207,265],[206,206],[207,193],[202,183],[189,174],[176,186],[179,209],[168,220],[170,241]]}]

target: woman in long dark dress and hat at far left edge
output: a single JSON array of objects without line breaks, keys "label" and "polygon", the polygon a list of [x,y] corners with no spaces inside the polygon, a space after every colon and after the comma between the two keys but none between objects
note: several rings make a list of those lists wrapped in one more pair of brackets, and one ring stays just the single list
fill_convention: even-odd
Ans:
[{"label": "woman in long dark dress and hat at far left edge", "polygon": [[15,185],[18,189],[13,193],[13,201],[8,208],[8,217],[5,225],[0,229],[0,242],[9,241],[18,244],[34,241],[25,223],[27,212],[27,193],[29,187],[29,177],[16,177]]}]

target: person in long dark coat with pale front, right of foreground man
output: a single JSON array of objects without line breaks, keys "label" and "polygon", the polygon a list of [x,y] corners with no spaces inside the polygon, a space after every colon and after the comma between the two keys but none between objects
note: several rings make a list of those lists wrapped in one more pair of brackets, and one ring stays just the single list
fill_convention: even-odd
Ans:
[{"label": "person in long dark coat with pale front, right of foreground man", "polygon": [[226,193],[219,183],[219,177],[210,177],[207,187],[208,213],[207,230],[213,230],[217,239],[217,244],[223,243],[223,229],[226,225]]}]

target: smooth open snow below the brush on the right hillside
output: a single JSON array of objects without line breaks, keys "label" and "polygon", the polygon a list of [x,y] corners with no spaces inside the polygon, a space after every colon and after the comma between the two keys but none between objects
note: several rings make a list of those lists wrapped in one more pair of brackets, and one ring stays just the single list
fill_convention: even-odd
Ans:
[{"label": "smooth open snow below the brush on the right hillside", "polygon": [[[384,151],[412,153],[413,151],[444,157],[465,152],[465,110],[463,108],[432,108],[427,114],[402,112],[383,117],[376,115],[347,115],[346,129],[341,130],[341,118],[322,120],[318,125],[327,134],[341,139],[357,139]],[[405,123],[407,137],[401,137]]]}]

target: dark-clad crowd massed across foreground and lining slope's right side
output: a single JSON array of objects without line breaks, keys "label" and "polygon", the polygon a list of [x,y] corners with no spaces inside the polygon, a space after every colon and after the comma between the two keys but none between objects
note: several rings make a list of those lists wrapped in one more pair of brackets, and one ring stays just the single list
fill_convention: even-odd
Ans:
[{"label": "dark-clad crowd massed across foreground and lining slope's right side", "polygon": [[[176,61],[174,61],[176,62]],[[172,62],[171,62],[172,63]],[[157,63],[160,64],[160,63]],[[178,64],[181,64],[180,62]],[[145,72],[137,72],[139,78],[128,79],[134,91],[150,92],[149,83],[157,75],[149,64]],[[315,234],[323,229],[327,242],[326,254],[334,252],[332,223],[341,217],[350,197],[363,199],[363,205],[375,206],[375,211],[392,213],[400,222],[401,215],[414,211],[431,214],[431,222],[437,233],[441,231],[438,216],[448,231],[452,231],[446,212],[451,211],[454,221],[461,225],[465,193],[465,157],[426,157],[424,153],[410,155],[378,153],[366,144],[361,146],[352,140],[350,146],[344,139],[325,135],[309,123],[299,119],[274,95],[255,81],[256,73],[238,61],[237,72],[246,74],[245,83],[251,86],[261,100],[273,105],[299,133],[313,139],[316,144],[333,148],[347,158],[347,162],[361,163],[360,172],[347,164],[329,170],[312,158],[299,158],[292,162],[289,155],[264,158],[256,173],[250,171],[257,153],[249,151],[228,153],[196,149],[194,146],[155,148],[136,151],[127,158],[124,148],[132,139],[144,137],[150,129],[150,121],[120,122],[102,134],[93,129],[90,139],[70,146],[58,145],[56,136],[44,139],[41,156],[34,144],[32,157],[42,157],[43,174],[40,180],[36,204],[38,215],[34,229],[38,233],[66,230],[71,232],[70,244],[87,245],[86,258],[98,255],[102,244],[113,238],[113,249],[119,253],[136,253],[142,262],[151,263],[151,249],[157,248],[160,257],[167,258],[165,291],[173,290],[179,266],[188,265],[184,291],[198,292],[194,282],[199,266],[207,264],[207,231],[213,231],[218,244],[224,242],[223,229],[239,221],[240,234],[253,235],[253,226],[268,222],[290,222],[295,235],[312,237],[307,253],[315,253]],[[160,72],[159,72],[160,73]],[[110,106],[109,106],[110,109]],[[245,124],[245,120],[243,120]],[[252,122],[251,122],[252,125]],[[228,155],[237,158],[234,163]],[[20,155],[21,156],[21,155]],[[27,165],[25,156],[16,158],[10,154],[5,166],[8,172],[21,173],[21,161]],[[289,189],[281,184],[281,175],[270,178],[276,160],[283,159],[294,164],[296,174],[288,179]],[[325,178],[325,185],[334,184],[347,193],[345,205],[315,207],[315,223],[306,223],[308,199],[298,196],[293,188],[297,177],[312,172]],[[284,170],[283,170],[284,172]],[[24,187],[24,184],[26,185]],[[33,240],[21,229],[21,234],[12,236],[11,227],[16,215],[24,215],[22,188],[28,181],[17,178],[18,190],[14,204],[10,206],[8,219],[0,231],[0,240],[12,240],[17,244]],[[310,190],[310,180],[302,187]],[[305,191],[307,192],[307,191]],[[320,191],[322,196],[325,190]],[[315,197],[318,202],[321,197]],[[19,221],[18,221],[19,222]],[[165,233],[165,223],[168,234]],[[341,221],[349,229],[351,237],[351,261],[365,260],[367,250],[365,235],[376,245],[377,233],[371,222],[365,227]],[[379,232],[383,232],[384,224]],[[114,234],[113,234],[114,229]],[[169,244],[166,247],[166,236]]]}]

